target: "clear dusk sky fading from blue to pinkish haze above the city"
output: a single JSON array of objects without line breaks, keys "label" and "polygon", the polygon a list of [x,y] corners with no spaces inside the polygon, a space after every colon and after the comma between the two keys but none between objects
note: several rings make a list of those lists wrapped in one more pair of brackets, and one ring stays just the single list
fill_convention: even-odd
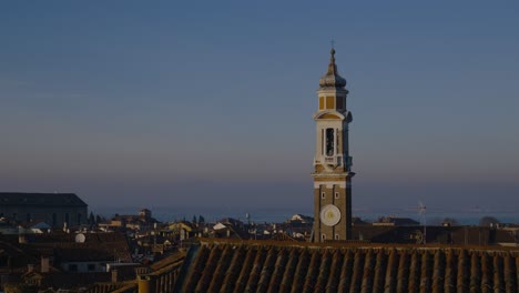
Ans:
[{"label": "clear dusk sky fading from blue to pinkish haze above the city", "polygon": [[0,186],[311,210],[334,39],[354,209],[515,209],[518,16],[518,1],[2,1]]}]

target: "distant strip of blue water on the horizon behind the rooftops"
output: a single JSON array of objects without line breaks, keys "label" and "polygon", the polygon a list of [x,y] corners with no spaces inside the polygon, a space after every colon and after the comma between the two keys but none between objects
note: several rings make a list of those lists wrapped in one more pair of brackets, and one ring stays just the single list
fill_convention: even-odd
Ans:
[{"label": "distant strip of blue water on the horizon behind the rooftops", "polygon": [[[241,221],[256,223],[281,223],[285,222],[294,214],[304,214],[313,216],[313,210],[309,209],[233,209],[233,208],[149,208],[152,215],[161,222],[173,222],[176,220],[191,221],[193,215],[199,219],[202,215],[206,222],[216,222],[223,218],[234,218]],[[138,214],[140,208],[94,208],[93,213],[111,218],[118,214]],[[376,221],[380,216],[395,215],[399,218],[410,218],[420,223],[424,216],[416,211],[407,210],[354,210],[354,216],[359,216],[363,220]],[[510,211],[427,211],[425,221],[428,225],[438,225],[444,219],[455,219],[462,225],[477,225],[482,216],[495,216],[501,223],[519,223],[519,212]]]}]

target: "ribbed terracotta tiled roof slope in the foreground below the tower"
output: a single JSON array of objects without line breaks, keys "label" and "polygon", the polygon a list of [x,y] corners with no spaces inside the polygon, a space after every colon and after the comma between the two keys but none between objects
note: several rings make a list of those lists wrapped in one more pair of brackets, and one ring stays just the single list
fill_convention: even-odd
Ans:
[{"label": "ribbed terracotta tiled roof slope in the foreground below the tower", "polygon": [[175,292],[518,292],[519,250],[202,241]]}]

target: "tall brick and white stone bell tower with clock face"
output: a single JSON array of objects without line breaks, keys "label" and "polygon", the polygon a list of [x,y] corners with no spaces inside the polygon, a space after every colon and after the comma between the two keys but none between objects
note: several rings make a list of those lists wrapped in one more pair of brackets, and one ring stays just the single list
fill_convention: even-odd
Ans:
[{"label": "tall brick and white stone bell tower with clock face", "polygon": [[352,156],[346,107],[346,80],[337,72],[335,49],[319,80],[314,158],[314,242],[352,239]]}]

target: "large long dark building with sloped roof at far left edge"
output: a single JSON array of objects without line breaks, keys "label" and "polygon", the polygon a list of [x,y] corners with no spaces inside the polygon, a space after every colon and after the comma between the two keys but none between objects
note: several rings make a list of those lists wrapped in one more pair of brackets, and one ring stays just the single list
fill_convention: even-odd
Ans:
[{"label": "large long dark building with sloped roof at far left edge", "polygon": [[0,218],[17,222],[75,226],[86,223],[86,203],[74,193],[0,192]]}]

